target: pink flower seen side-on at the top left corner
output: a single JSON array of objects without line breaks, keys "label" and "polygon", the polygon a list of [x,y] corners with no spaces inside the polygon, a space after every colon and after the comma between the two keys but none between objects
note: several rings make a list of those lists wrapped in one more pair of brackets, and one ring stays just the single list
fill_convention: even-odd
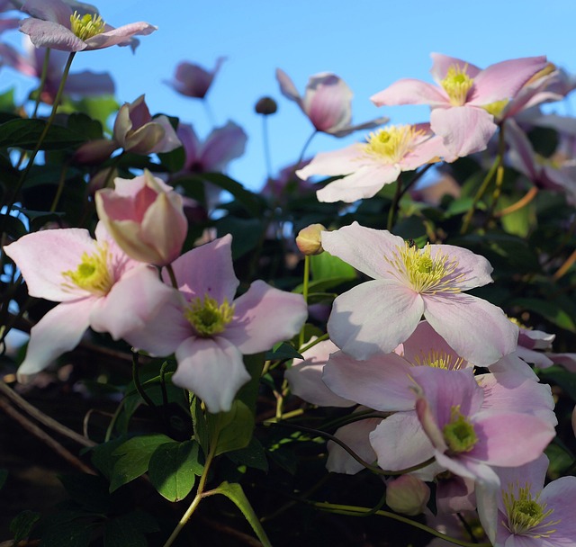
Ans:
[{"label": "pink flower seen side-on at the top left corner", "polygon": [[133,36],[157,30],[148,22],[131,22],[117,29],[103,22],[97,13],[72,12],[62,0],[27,0],[23,12],[31,17],[20,24],[37,48],[89,51],[111,46],[133,45]]}]

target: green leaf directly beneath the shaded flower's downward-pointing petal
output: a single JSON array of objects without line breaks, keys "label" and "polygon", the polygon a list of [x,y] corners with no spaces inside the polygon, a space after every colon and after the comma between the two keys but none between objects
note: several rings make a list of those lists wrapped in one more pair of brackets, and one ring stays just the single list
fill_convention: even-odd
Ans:
[{"label": "green leaf directly beneath the shaded flower's downward-pointing petal", "polygon": [[246,403],[239,399],[232,403],[229,412],[208,414],[207,419],[210,439],[215,438],[217,431],[220,431],[214,454],[216,456],[244,448],[252,438],[254,414]]}]

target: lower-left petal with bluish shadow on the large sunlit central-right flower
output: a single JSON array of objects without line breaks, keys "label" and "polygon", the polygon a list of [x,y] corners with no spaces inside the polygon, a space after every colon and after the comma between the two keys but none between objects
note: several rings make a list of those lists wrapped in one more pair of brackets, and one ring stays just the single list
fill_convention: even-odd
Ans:
[{"label": "lower-left petal with bluish shadow on the large sunlit central-right flower", "polygon": [[392,352],[412,334],[423,311],[419,294],[397,282],[364,282],[334,300],[328,332],[342,351],[365,360]]}]

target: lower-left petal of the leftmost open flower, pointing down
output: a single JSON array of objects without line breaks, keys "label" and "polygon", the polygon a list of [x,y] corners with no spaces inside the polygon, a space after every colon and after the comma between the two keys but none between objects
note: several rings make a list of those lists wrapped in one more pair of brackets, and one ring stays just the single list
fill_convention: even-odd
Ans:
[{"label": "lower-left petal of the leftmost open flower, pointing down", "polygon": [[94,298],[85,298],[58,304],[31,328],[26,358],[18,369],[19,381],[44,370],[61,354],[78,345],[88,328],[95,301]]}]

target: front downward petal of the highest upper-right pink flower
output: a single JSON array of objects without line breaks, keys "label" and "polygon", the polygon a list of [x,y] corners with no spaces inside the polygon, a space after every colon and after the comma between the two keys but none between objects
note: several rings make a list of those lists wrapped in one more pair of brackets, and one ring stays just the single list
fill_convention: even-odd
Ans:
[{"label": "front downward petal of the highest upper-right pink flower", "polygon": [[480,152],[498,129],[494,117],[482,108],[455,106],[435,108],[430,126],[444,140],[444,145],[458,157]]}]

